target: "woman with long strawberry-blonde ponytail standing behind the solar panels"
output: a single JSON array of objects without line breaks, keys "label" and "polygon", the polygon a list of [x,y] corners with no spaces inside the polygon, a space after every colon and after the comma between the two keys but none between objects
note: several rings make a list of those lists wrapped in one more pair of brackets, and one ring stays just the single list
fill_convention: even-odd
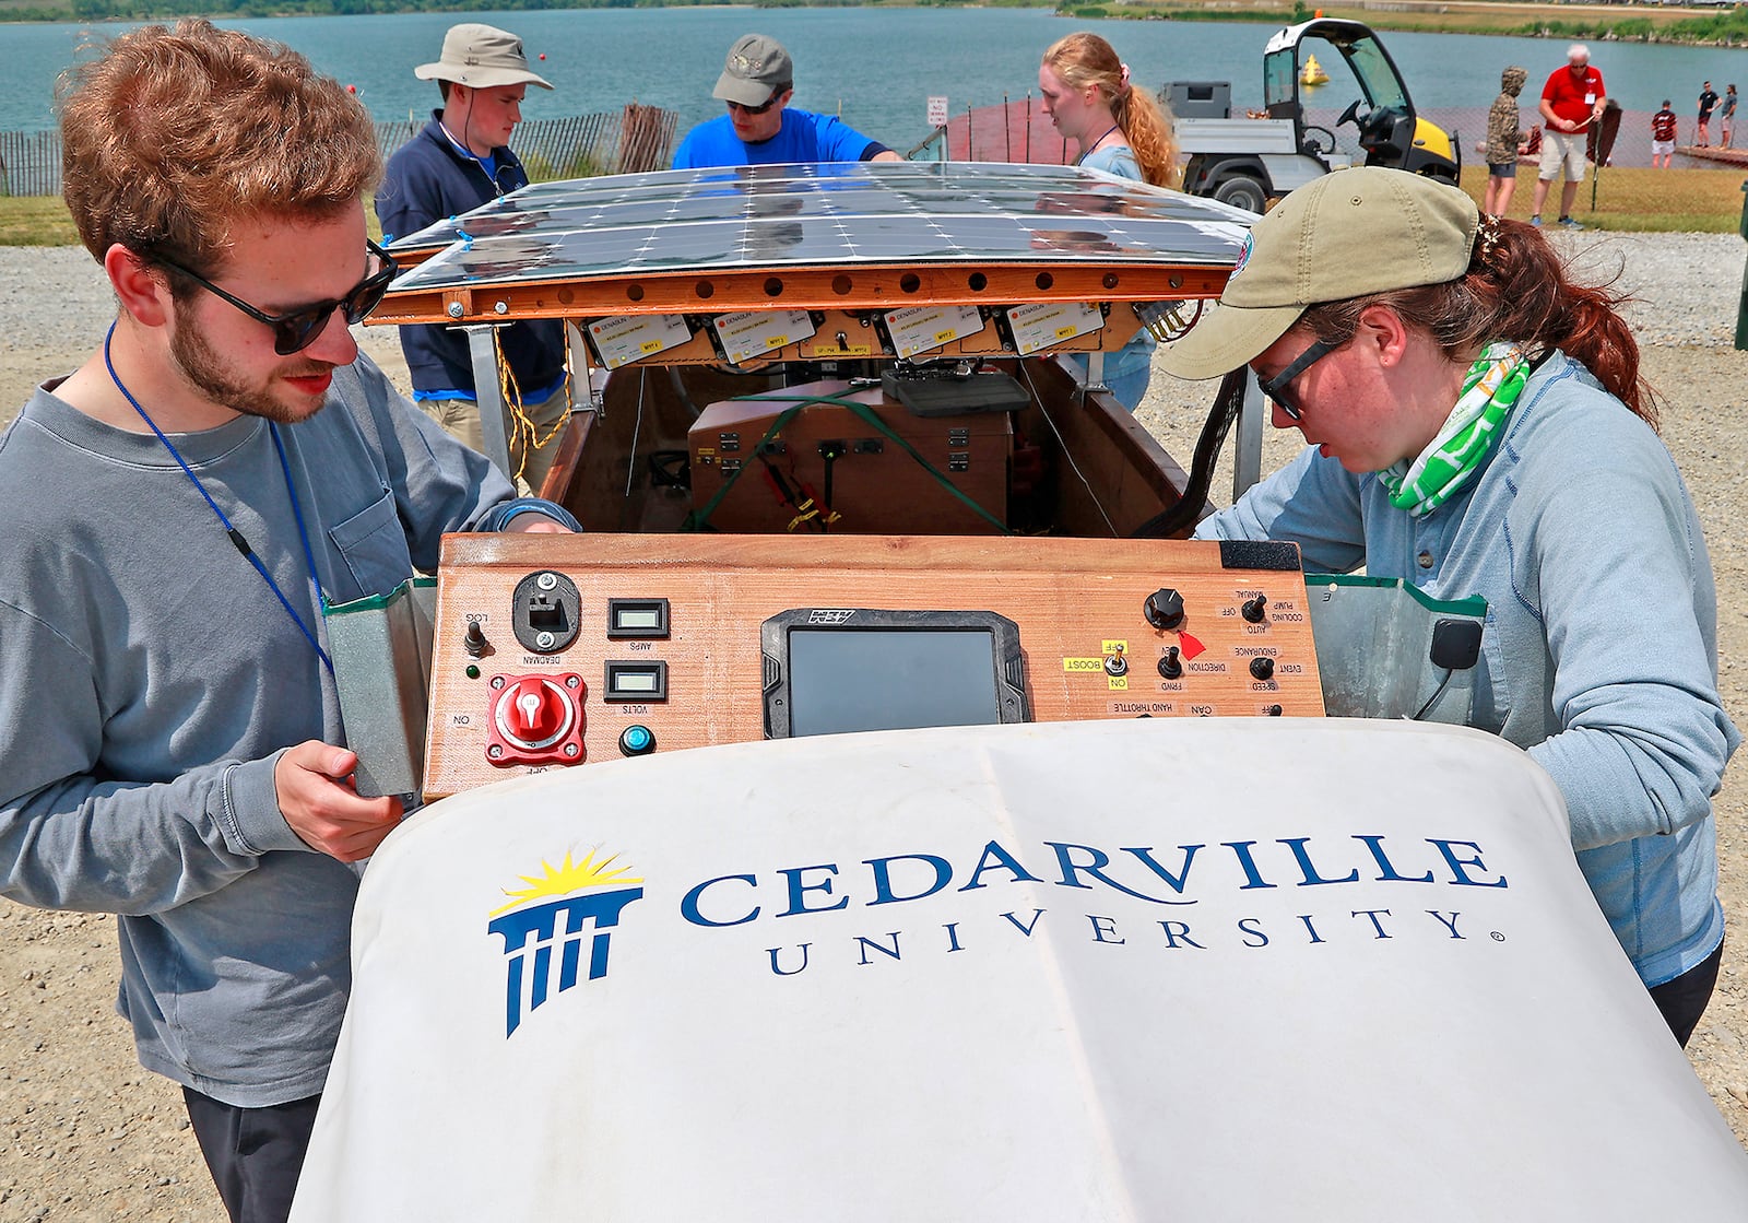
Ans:
[{"label": "woman with long strawberry-blonde ponytail standing behind the solar panels", "polygon": [[[1056,129],[1075,142],[1077,163],[1155,187],[1182,180],[1171,119],[1147,89],[1129,82],[1129,65],[1096,33],[1072,33],[1051,44],[1038,65],[1038,93]],[[1086,376],[1084,355],[1072,360]],[[1105,385],[1134,411],[1154,371],[1154,338],[1147,327],[1120,350],[1105,355]]]}]

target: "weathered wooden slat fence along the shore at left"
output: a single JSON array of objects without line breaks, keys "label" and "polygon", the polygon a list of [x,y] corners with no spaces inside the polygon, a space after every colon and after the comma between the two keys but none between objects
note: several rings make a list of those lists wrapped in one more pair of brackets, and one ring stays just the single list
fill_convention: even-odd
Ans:
[{"label": "weathered wooden slat fence along the shore at left", "polygon": [[[678,115],[636,101],[566,119],[531,119],[516,129],[516,156],[535,182],[666,170]],[[376,124],[383,156],[420,133],[423,119]],[[0,131],[0,196],[61,194],[61,133]]]}]

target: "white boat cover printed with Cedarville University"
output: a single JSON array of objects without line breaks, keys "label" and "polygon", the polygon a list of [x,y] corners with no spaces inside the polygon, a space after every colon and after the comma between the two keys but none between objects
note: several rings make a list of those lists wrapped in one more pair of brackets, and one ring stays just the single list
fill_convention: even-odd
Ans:
[{"label": "white boat cover printed with Cedarville University", "polygon": [[841,735],[372,861],[294,1220],[1741,1220],[1748,1157],[1467,730]]}]

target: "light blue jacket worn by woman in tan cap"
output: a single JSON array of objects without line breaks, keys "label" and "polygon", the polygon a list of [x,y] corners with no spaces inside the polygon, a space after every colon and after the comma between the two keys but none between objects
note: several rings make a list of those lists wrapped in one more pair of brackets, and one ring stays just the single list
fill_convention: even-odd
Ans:
[{"label": "light blue jacket worn by woman in tan cap", "polygon": [[1488,464],[1425,518],[1308,448],[1196,534],[1292,539],[1308,570],[1363,563],[1486,598],[1474,724],[1559,786],[1578,866],[1647,985],[1717,950],[1711,796],[1741,733],[1718,698],[1711,562],[1669,451],[1587,369],[1552,353]]}]

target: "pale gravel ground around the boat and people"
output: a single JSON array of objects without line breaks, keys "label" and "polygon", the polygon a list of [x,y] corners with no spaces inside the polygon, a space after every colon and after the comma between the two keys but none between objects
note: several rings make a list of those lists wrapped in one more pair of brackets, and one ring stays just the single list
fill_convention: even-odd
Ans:
[{"label": "pale gravel ground around the boat and people", "polygon": [[[1748,355],[1732,348],[1743,283],[1734,234],[1556,234],[1587,275],[1617,275],[1662,394],[1662,434],[1706,525],[1718,577],[1724,700],[1748,723]],[[114,313],[100,269],[77,248],[0,248],[0,423],[42,378],[73,369]],[[362,343],[406,378],[388,331]],[[1140,418],[1189,460],[1208,385],[1155,374]],[[1297,434],[1266,441],[1264,469]],[[1229,467],[1215,497],[1231,492]],[[1748,751],[1717,800],[1720,891],[1734,931],[1748,929]],[[222,1223],[180,1094],[142,1071],[114,1013],[112,919],[45,913],[0,901],[0,1221],[178,1220]],[[1748,940],[1725,943],[1724,975],[1689,1060],[1748,1144]]]}]

